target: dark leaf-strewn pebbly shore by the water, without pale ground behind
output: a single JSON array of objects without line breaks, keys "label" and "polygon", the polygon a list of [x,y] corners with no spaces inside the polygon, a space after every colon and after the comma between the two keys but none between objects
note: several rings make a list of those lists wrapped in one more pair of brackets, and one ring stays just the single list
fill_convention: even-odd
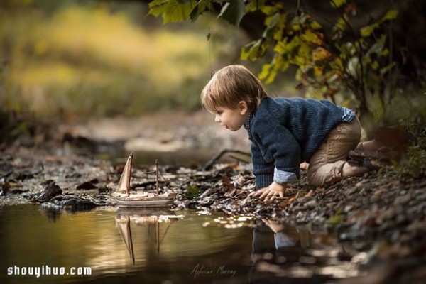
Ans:
[{"label": "dark leaf-strewn pebbly shore by the water, without pale ground behind", "polygon": [[[90,155],[57,153],[53,148],[7,148],[0,159],[0,207],[35,203],[52,210],[75,211],[116,206],[112,192],[123,164]],[[149,181],[143,174],[147,170],[149,166],[136,165],[133,182],[141,185]],[[163,165],[160,170],[169,189],[178,192],[175,209],[274,219],[327,231],[340,246],[342,257],[366,253],[367,273],[361,277],[365,279],[357,281],[420,283],[426,279],[425,177],[401,175],[389,167],[364,177],[345,178],[329,187],[311,187],[302,178],[283,199],[265,204],[246,200],[254,190],[250,164],[220,163],[208,171]],[[49,187],[60,191],[47,195]],[[356,283],[351,281],[354,279],[342,283]]]}]

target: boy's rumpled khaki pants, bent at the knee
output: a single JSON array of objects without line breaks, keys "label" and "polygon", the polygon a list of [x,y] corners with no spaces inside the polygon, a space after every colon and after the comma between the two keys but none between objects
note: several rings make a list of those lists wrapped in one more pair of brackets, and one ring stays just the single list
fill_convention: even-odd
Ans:
[{"label": "boy's rumpled khaki pants, bent at the knee", "polygon": [[334,127],[310,159],[307,170],[309,184],[319,186],[341,180],[348,153],[356,148],[360,139],[361,125],[357,118]]}]

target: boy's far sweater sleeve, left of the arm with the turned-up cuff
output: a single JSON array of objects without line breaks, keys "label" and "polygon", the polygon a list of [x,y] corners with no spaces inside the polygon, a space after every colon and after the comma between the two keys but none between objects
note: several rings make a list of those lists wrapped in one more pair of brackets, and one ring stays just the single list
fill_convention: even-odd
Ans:
[{"label": "boy's far sweater sleeve, left of the arm with the turned-up cuff", "polygon": [[273,162],[266,162],[261,150],[256,143],[251,143],[251,160],[253,163],[253,174],[256,178],[256,189],[268,187],[273,182]]}]

